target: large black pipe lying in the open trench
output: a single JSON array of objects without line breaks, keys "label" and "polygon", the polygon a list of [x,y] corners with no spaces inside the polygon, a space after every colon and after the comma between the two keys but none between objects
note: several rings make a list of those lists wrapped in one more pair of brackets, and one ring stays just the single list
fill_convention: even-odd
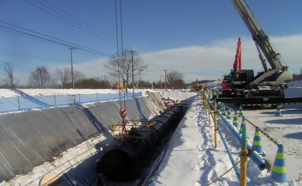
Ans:
[{"label": "large black pipe lying in the open trench", "polygon": [[150,127],[140,128],[149,130],[147,138],[128,139],[114,149],[107,151],[97,164],[97,169],[103,172],[107,179],[112,181],[121,182],[133,179],[133,172],[137,166],[147,157],[154,145],[169,129],[174,119],[179,116],[180,112],[181,106],[174,107],[159,116],[155,120],[154,130],[150,130]]}]

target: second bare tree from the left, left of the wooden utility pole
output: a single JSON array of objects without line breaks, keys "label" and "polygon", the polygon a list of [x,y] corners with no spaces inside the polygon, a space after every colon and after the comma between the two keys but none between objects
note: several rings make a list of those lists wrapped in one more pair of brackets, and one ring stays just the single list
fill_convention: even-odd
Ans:
[{"label": "second bare tree from the left, left of the wooden utility pole", "polygon": [[30,71],[29,83],[38,88],[45,88],[50,83],[51,76],[49,69],[45,66],[37,66]]}]

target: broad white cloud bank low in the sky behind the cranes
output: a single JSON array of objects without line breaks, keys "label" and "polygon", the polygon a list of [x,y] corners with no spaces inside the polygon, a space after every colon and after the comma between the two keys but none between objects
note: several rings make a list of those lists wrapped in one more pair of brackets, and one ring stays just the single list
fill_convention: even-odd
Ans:
[{"label": "broad white cloud bank low in the sky behind the cranes", "polygon": [[[242,41],[242,68],[253,69],[255,74],[262,70],[262,64],[252,38],[241,38]],[[302,67],[300,59],[302,51],[302,34],[285,37],[270,37],[271,43],[282,58],[289,70],[299,73]],[[150,64],[149,68],[163,70],[177,70],[186,75],[185,80],[194,81],[196,78],[217,79],[224,73],[228,74],[233,69],[238,38],[229,38],[221,41],[213,41],[211,45],[190,46],[177,49],[169,49],[142,54],[156,64]],[[269,65],[269,64],[268,64]],[[169,71],[168,71],[169,72]],[[164,73],[163,73],[164,75]],[[152,77],[148,77],[150,79]],[[154,78],[155,79],[155,78]],[[158,79],[155,79],[158,81]]]}]

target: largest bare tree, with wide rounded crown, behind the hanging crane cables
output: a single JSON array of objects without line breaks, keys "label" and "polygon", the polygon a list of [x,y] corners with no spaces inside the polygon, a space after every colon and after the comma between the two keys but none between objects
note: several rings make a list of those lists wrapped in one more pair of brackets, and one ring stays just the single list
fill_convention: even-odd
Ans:
[{"label": "largest bare tree, with wide rounded crown, behind the hanging crane cables", "polygon": [[[110,75],[122,79],[127,91],[129,80],[132,77],[132,54],[127,50],[121,51],[118,57],[117,55],[111,57],[104,67]],[[146,68],[147,65],[143,63],[141,57],[137,53],[133,53],[133,76],[138,77],[139,73],[142,74]]]}]

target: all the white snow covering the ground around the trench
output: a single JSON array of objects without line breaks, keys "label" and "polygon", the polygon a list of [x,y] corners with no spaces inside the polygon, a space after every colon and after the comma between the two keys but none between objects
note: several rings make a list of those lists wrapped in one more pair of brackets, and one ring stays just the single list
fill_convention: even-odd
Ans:
[{"label": "all the white snow covering the ground around the trench", "polygon": [[[32,96],[116,93],[114,90],[101,89],[22,89],[22,91]],[[145,95],[146,90],[138,91],[143,91],[142,95]],[[286,92],[286,95],[291,95],[291,97],[302,96],[302,88],[288,88]],[[217,148],[214,147],[214,127],[212,123],[209,125],[208,116],[205,114],[201,99],[196,96],[196,93],[178,91],[160,91],[160,93],[163,97],[172,100],[195,97],[184,117],[184,124],[177,134],[178,140],[173,148],[168,149],[167,155],[152,177],[150,185],[206,185],[229,170],[233,165],[221,140],[219,140],[219,136]],[[7,89],[0,90],[0,97],[10,96],[16,96],[16,93]],[[235,110],[238,109],[230,106]],[[249,159],[247,185],[302,185],[302,151],[300,149],[302,146],[302,105],[281,106],[282,117],[276,117],[276,109],[270,107],[244,108],[244,114],[254,125],[259,126],[278,143],[284,145],[286,174],[287,180],[289,180],[288,183],[274,182],[270,177],[270,172],[267,172],[266,169],[259,170],[255,163]],[[234,113],[232,113],[233,115]],[[250,137],[249,144],[252,145],[255,128],[249,122],[247,122],[247,128]],[[264,159],[268,165],[272,166],[277,146],[265,136],[262,135],[261,138],[263,150],[266,152]],[[235,161],[238,162],[240,160],[240,148],[232,145],[232,141],[228,143]],[[0,185],[6,184],[8,183],[0,183]],[[239,180],[235,171],[231,170],[212,185],[239,185]]]}]

